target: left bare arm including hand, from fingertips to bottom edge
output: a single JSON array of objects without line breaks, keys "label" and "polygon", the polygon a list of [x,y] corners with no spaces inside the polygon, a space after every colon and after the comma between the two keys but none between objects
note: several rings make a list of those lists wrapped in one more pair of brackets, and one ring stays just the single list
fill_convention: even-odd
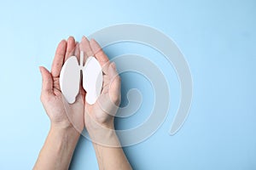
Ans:
[{"label": "left bare arm including hand, from fingertips to bottom edge", "polygon": [[41,101],[51,127],[33,169],[68,169],[80,132],[84,128],[84,101],[78,98],[73,105],[69,105],[71,112],[67,112],[59,83],[64,61],[73,54],[78,56],[77,53],[79,44],[76,44],[73,37],[69,37],[67,41],[59,43],[51,72],[40,67],[43,77]]}]

